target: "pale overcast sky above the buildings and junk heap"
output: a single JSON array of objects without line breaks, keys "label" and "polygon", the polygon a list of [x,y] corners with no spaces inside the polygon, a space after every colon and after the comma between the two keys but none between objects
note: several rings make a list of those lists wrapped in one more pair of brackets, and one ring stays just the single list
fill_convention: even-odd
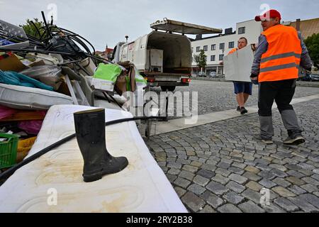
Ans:
[{"label": "pale overcast sky above the buildings and junk heap", "polygon": [[125,40],[125,35],[133,41],[149,33],[150,23],[162,18],[235,28],[237,22],[262,13],[262,4],[279,10],[283,21],[319,17],[318,0],[0,0],[0,19],[15,25],[26,18],[42,21],[40,11],[47,16],[56,6],[57,26],[79,33],[97,50],[104,50],[106,44],[113,48]]}]

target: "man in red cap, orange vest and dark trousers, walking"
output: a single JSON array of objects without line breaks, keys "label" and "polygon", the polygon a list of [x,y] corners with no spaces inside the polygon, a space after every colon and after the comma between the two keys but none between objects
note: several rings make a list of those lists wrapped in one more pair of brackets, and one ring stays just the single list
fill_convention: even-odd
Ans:
[{"label": "man in red cap, orange vest and dark trousers, walking", "polygon": [[306,45],[295,28],[281,25],[281,15],[276,10],[256,16],[255,21],[262,21],[264,32],[259,37],[251,75],[252,81],[259,82],[260,134],[254,137],[266,144],[274,143],[272,105],[276,101],[289,135],[284,144],[305,143],[298,118],[290,103],[296,90],[299,66],[306,70],[311,70],[312,67]]}]

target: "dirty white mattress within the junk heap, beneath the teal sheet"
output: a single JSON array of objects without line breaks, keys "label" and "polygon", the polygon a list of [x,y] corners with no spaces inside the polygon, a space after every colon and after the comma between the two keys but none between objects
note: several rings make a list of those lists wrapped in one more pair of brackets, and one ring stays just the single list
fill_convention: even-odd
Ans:
[{"label": "dirty white mattress within the junk heap, beneath the teal sheet", "polygon": [[44,89],[0,84],[0,104],[13,109],[47,110],[54,105],[71,105],[72,98]]}]

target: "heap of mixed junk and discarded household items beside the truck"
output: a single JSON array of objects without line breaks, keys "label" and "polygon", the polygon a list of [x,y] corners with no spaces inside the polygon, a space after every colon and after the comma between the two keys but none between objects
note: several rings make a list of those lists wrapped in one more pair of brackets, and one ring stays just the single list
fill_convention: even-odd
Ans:
[{"label": "heap of mixed junk and discarded household items beside the truck", "polygon": [[[45,114],[54,105],[123,108],[123,92],[138,92],[145,79],[130,62],[113,64],[95,56],[94,46],[82,36],[45,19],[40,38],[0,20],[0,169],[8,163],[6,135],[19,138],[16,162],[28,155]],[[42,35],[40,35],[42,34]],[[12,147],[12,148],[11,148]],[[12,160],[12,158],[11,158]]]}]

